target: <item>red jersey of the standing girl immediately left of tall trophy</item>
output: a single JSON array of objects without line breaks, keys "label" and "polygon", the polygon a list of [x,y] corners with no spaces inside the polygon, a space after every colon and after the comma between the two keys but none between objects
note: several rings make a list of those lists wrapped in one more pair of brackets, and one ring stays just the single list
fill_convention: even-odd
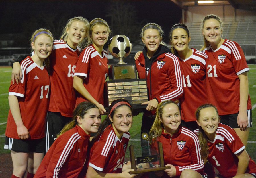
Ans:
[{"label": "red jersey of the standing girl immediately left of tall trophy", "polygon": [[[101,57],[93,45],[85,48],[79,56],[75,76],[84,77],[83,86],[99,104],[103,105],[104,83],[108,76],[107,51],[103,50]],[[83,101],[87,100],[79,94],[76,106]]]}]

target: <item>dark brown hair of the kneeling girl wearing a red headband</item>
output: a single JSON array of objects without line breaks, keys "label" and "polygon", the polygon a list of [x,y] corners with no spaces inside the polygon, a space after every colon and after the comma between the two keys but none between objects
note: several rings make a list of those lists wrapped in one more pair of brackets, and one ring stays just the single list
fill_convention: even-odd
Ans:
[{"label": "dark brown hair of the kneeling girl wearing a red headband", "polygon": [[111,127],[112,127],[112,122],[111,122],[110,119],[109,119],[109,114],[110,114],[110,117],[113,118],[113,116],[114,116],[114,114],[116,113],[116,111],[117,111],[118,108],[120,108],[120,107],[122,107],[122,106],[125,105],[125,106],[127,106],[127,107],[130,108],[130,110],[132,111],[132,115],[134,115],[134,114],[133,114],[132,107],[129,106],[129,105],[127,105],[127,104],[121,104],[121,105],[117,106],[116,108],[114,108],[114,110],[111,112],[113,106],[114,106],[116,103],[122,102],[122,101],[127,102],[128,104],[130,104],[127,100],[122,99],[122,98],[112,101],[112,103],[111,103],[110,106],[109,106],[108,116],[107,116],[107,117],[105,118],[105,120],[101,123],[101,127],[99,128],[99,130],[98,130],[97,134],[95,135],[95,137],[93,137],[91,143],[94,143],[95,140],[97,140],[97,138],[103,133],[103,131],[104,131],[109,125],[111,125]]}]

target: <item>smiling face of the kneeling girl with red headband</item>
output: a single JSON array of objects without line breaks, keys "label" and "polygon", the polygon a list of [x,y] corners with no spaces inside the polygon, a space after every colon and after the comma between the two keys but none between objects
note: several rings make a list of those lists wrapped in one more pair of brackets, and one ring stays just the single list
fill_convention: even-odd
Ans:
[{"label": "smiling face of the kneeling girl with red headband", "polygon": [[109,119],[112,122],[113,129],[120,139],[124,132],[127,132],[132,127],[132,111],[123,105],[115,110],[113,118],[109,114]]}]

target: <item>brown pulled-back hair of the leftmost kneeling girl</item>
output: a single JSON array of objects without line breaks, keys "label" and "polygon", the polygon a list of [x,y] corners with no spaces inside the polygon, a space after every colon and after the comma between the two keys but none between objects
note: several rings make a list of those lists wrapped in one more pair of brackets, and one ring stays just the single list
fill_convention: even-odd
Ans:
[{"label": "brown pulled-back hair of the leftmost kneeling girl", "polygon": [[91,103],[91,102],[81,102],[80,104],[77,105],[77,107],[74,109],[73,111],[73,119],[71,122],[69,122],[67,125],[65,125],[63,127],[63,129],[60,131],[60,133],[57,135],[57,138],[62,135],[63,133],[65,133],[66,131],[74,128],[76,125],[78,125],[78,122],[77,122],[77,116],[80,116],[80,118],[83,118],[84,115],[92,108],[97,108],[98,107]]}]

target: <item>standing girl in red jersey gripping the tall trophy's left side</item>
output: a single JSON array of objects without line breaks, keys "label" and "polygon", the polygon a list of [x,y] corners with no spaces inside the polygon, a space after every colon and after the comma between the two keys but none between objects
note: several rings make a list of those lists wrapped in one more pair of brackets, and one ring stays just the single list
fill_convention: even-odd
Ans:
[{"label": "standing girl in red jersey gripping the tall trophy's left side", "polygon": [[108,76],[108,53],[103,46],[108,41],[110,28],[101,18],[90,22],[89,37],[92,44],[83,50],[79,56],[75,69],[73,87],[79,96],[76,105],[83,101],[90,101],[99,108],[101,114],[104,109],[104,83]]}]

